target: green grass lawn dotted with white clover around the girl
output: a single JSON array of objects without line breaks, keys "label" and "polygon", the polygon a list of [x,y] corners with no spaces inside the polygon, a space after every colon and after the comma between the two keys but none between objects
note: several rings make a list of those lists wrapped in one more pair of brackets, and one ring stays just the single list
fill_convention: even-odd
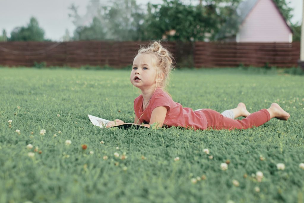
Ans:
[{"label": "green grass lawn dotted with white clover around the girl", "polygon": [[263,72],[176,70],[168,91],[184,107],[219,112],[277,102],[288,121],[232,131],[123,130],[93,126],[87,114],[133,122],[139,91],[130,71],[0,68],[0,203],[304,202],[304,80]]}]

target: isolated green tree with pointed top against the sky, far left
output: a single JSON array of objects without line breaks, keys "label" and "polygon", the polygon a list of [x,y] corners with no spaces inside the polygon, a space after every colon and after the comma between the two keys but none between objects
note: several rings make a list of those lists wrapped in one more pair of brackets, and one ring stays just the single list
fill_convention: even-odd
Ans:
[{"label": "isolated green tree with pointed top against the sky, far left", "polygon": [[39,27],[36,18],[30,19],[27,27],[15,27],[9,41],[44,41],[44,30]]}]

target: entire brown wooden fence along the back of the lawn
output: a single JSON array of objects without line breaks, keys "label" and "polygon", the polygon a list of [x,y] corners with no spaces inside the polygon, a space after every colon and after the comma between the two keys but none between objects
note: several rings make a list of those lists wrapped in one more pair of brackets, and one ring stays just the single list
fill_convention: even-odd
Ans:
[{"label": "entire brown wooden fence along the back of the lawn", "polygon": [[[46,62],[47,66],[84,65],[124,67],[132,60],[141,45],[148,42],[1,42],[0,65],[33,66]],[[177,66],[235,67],[298,65],[300,43],[210,43],[164,42],[174,55]],[[186,61],[185,61],[186,60]]]}]

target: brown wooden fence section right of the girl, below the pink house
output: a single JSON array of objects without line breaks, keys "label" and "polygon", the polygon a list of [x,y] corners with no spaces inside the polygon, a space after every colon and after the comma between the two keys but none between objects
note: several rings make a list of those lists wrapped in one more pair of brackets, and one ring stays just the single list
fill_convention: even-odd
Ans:
[{"label": "brown wooden fence section right of the girl, below the pink house", "polygon": [[196,42],[195,67],[298,66],[300,43]]}]

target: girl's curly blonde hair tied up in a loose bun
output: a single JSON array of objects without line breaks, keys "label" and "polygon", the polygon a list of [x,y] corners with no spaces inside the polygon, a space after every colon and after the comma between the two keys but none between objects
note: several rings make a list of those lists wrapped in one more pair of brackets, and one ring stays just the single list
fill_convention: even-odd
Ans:
[{"label": "girl's curly blonde hair tied up in a loose bun", "polygon": [[164,79],[161,82],[157,82],[157,87],[165,88],[169,83],[169,74],[174,69],[172,54],[161,45],[160,41],[151,42],[148,47],[140,48],[138,54],[153,54],[157,57],[157,62],[152,60],[153,65],[157,67],[157,76],[160,73],[164,73]]}]

